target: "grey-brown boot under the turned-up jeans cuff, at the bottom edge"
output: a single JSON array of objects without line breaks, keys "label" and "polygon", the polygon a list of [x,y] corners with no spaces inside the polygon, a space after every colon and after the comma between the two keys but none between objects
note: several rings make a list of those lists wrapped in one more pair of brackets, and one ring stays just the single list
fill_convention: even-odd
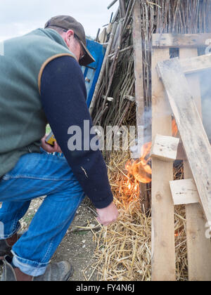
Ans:
[{"label": "grey-brown boot under the turned-up jeans cuff, at the bottom edge", "polygon": [[[44,275],[40,275],[39,277],[30,277],[20,272],[19,269],[13,268],[12,266],[12,258],[9,256],[5,256],[3,259],[4,269],[3,274],[1,275],[1,282],[13,282],[18,280],[25,280],[24,277],[28,277],[28,280],[34,282],[53,282],[53,281],[68,281],[73,273],[72,266],[68,261],[61,261],[58,263],[51,263],[46,268],[46,272]],[[18,270],[18,272],[17,272]],[[18,275],[16,275],[16,273]],[[20,274],[21,273],[21,274]],[[18,279],[19,277],[19,279]],[[22,279],[21,279],[22,277]]]}]

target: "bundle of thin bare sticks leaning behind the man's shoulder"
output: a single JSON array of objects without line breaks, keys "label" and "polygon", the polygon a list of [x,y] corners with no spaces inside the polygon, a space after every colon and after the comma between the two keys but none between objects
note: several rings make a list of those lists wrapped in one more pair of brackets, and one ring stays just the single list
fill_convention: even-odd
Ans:
[{"label": "bundle of thin bare sticks leaning behind the man's shoulder", "polygon": [[[114,3],[114,1],[113,1]],[[94,125],[121,126],[135,119],[132,11],[134,0],[120,1],[120,9],[97,41],[106,43],[90,112]]]}]

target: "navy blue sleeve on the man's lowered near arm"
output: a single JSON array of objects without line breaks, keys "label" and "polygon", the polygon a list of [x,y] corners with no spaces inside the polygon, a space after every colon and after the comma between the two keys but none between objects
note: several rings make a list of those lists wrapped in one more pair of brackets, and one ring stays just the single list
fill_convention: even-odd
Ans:
[{"label": "navy blue sleeve on the man's lowered near arm", "polygon": [[[63,56],[46,65],[41,77],[41,101],[46,118],[85,194],[98,209],[113,202],[106,163],[100,150],[84,149],[84,120],[92,127],[84,76],[74,58]],[[82,131],[82,150],[70,151],[70,126]],[[96,135],[90,135],[90,140]]]}]

